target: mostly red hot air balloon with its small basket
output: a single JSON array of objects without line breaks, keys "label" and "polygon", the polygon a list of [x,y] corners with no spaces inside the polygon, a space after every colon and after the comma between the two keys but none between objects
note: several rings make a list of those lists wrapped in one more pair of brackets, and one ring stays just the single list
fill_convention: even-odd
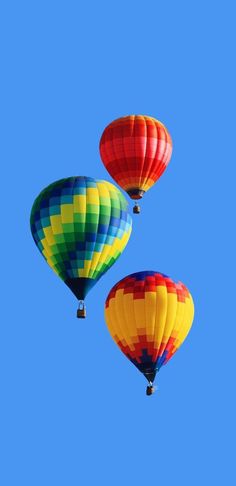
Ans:
[{"label": "mostly red hot air balloon with its small basket", "polygon": [[[100,140],[101,159],[131,199],[141,199],[161,177],[172,153],[166,127],[155,118],[130,115],[108,125]],[[135,204],[134,213],[140,212]]]}]

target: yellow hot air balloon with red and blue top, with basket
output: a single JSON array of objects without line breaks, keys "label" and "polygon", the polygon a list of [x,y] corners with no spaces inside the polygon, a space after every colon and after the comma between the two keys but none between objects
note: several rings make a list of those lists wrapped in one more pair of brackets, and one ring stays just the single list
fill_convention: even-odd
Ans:
[{"label": "yellow hot air balloon with red and blue top, with basket", "polygon": [[154,391],[157,371],[185,340],[193,316],[188,289],[162,273],[133,273],[108,294],[108,329],[121,351],[148,380],[147,395]]}]

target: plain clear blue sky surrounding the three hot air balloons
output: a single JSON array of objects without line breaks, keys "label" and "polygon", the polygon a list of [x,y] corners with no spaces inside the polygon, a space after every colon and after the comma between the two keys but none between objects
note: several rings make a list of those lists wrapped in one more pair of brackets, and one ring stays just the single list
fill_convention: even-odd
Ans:
[{"label": "plain clear blue sky surrounding the three hot air balloons", "polygon": [[[235,482],[233,3],[1,5],[2,486]],[[61,177],[111,181],[99,138],[133,113],[165,123],[172,160],[79,321],[32,240],[31,205]],[[103,317],[139,270],[182,280],[196,307],[150,398]]]}]

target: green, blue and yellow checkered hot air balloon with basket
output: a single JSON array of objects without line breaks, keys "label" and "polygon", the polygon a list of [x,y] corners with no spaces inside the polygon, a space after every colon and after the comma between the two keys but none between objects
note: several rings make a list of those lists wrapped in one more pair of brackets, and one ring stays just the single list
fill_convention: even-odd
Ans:
[{"label": "green, blue and yellow checkered hot air balloon with basket", "polygon": [[88,291],[129,240],[127,201],[109,182],[69,177],[43,189],[30,224],[39,251],[79,300],[77,317],[85,317]]}]

